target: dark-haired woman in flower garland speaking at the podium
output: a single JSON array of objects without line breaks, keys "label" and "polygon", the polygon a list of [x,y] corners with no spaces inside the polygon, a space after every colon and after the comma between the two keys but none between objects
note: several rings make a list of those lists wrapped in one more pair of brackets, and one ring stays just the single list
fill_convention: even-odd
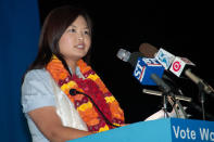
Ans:
[{"label": "dark-haired woman in flower garland speaking at the podium", "polygon": [[34,142],[66,141],[124,124],[124,113],[87,65],[91,21],[70,5],[49,13],[24,76],[23,112]]}]

